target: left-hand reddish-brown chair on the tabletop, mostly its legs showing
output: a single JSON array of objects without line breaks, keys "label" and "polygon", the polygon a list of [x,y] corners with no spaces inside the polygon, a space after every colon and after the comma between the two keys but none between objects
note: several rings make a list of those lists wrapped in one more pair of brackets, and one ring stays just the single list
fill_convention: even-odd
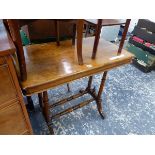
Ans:
[{"label": "left-hand reddish-brown chair on the tabletop, mostly its legs showing", "polygon": [[[24,20],[9,19],[7,21],[8,21],[8,26],[9,26],[9,30],[11,33],[11,37],[13,39],[13,42],[15,43],[16,50],[17,50],[17,56],[18,56],[19,67],[20,67],[20,77],[22,81],[25,81],[27,78],[27,72],[26,72],[26,64],[25,64],[23,47],[22,47],[22,41],[21,41],[20,32],[19,32],[20,26],[23,25],[20,23]],[[31,21],[33,20],[30,20],[30,22]],[[70,20],[66,20],[66,21],[70,21]],[[83,64],[83,58],[82,58],[83,21],[84,21],[83,19],[78,19],[76,21],[77,22],[76,23],[77,24],[77,57],[78,57],[79,65]],[[24,24],[26,24],[26,22],[29,23],[29,20],[25,20]],[[57,19],[55,20],[55,30],[56,30],[56,37],[57,37],[57,45],[59,46],[60,45],[59,20]],[[73,40],[74,39],[75,39],[75,36],[73,37]],[[75,41],[72,41],[72,42],[74,43]]]}]

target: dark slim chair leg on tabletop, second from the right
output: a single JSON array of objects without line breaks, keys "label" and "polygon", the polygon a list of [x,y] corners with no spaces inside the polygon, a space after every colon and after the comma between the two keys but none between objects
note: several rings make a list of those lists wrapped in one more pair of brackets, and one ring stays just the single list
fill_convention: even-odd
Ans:
[{"label": "dark slim chair leg on tabletop, second from the right", "polygon": [[102,19],[98,19],[98,23],[96,25],[96,31],[95,31],[95,40],[94,40],[94,46],[93,46],[93,53],[92,53],[92,59],[96,58],[97,53],[97,47],[100,39],[100,33],[102,28]]}]

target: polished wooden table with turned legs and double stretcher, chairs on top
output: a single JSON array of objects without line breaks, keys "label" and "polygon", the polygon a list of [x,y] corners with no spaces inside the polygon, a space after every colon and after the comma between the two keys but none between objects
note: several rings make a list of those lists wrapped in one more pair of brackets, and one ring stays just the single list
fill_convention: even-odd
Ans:
[{"label": "polished wooden table with turned legs and double stretcher, chairs on top", "polygon": [[[122,53],[118,55],[118,47],[116,45],[100,39],[96,58],[91,59],[93,43],[94,37],[83,39],[83,65],[78,64],[77,48],[76,45],[72,46],[71,41],[62,41],[61,46],[57,46],[55,43],[44,43],[24,47],[27,79],[24,82],[20,81],[20,84],[26,96],[42,92],[44,95],[47,93],[46,90],[48,89],[82,77],[90,76],[88,86],[78,94],[50,105],[48,105],[48,98],[43,99],[43,112],[48,125],[50,120],[49,108],[62,105],[87,93],[91,96],[89,100],[52,115],[51,118],[53,119],[67,114],[92,101],[96,101],[99,114],[104,118],[104,114],[102,113],[101,94],[104,88],[107,71],[130,63],[133,55],[126,50],[122,50]],[[99,91],[96,92],[94,88],[91,88],[93,81],[92,75],[102,72],[104,73]]]}]

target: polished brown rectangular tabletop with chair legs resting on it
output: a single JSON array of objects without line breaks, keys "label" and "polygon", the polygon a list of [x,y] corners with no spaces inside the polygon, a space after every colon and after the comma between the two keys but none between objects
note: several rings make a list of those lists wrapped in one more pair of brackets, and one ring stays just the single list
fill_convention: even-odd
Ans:
[{"label": "polished brown rectangular tabletop with chair legs resting on it", "polygon": [[83,39],[84,65],[77,63],[76,47],[70,46],[71,41],[28,45],[24,47],[27,66],[27,80],[21,82],[26,95],[42,92],[49,88],[103,72],[105,70],[130,63],[132,54],[122,50],[117,57],[118,47],[100,39],[96,59],[92,60],[94,38]]}]

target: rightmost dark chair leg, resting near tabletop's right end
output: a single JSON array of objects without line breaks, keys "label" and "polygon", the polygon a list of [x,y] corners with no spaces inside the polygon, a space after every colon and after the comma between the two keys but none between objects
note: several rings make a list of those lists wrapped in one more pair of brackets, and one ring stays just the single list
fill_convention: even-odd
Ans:
[{"label": "rightmost dark chair leg, resting near tabletop's right end", "polygon": [[123,34],[122,34],[122,38],[121,38],[121,41],[120,41],[120,44],[119,44],[119,49],[118,49],[118,53],[117,53],[118,55],[121,54],[121,52],[122,52],[122,48],[123,48],[124,41],[125,41],[125,38],[126,38],[126,35],[127,35],[127,32],[128,32],[130,21],[131,21],[131,19],[126,20],[124,31],[123,31]]}]

